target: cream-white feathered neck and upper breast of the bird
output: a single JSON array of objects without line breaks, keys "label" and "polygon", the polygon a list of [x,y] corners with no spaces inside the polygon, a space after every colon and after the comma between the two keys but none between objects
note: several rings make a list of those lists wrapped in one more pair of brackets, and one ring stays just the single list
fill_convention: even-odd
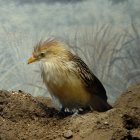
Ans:
[{"label": "cream-white feathered neck and upper breast of the bird", "polygon": [[43,80],[47,84],[63,85],[66,77],[71,75],[74,71],[74,64],[72,61],[63,61],[62,59],[51,59],[43,63]]}]

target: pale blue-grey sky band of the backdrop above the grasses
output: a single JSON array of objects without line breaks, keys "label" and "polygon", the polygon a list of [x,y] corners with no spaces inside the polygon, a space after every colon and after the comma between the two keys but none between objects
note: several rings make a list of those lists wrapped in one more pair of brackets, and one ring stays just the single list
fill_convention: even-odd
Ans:
[{"label": "pale blue-grey sky band of the backdrop above the grasses", "polygon": [[1,0],[0,5],[0,26],[9,31],[58,34],[101,23],[127,28],[131,17],[140,19],[139,0]]}]

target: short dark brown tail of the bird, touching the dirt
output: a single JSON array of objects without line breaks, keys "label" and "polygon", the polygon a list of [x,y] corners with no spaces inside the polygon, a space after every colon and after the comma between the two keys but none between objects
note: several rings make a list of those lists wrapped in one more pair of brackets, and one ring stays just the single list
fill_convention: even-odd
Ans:
[{"label": "short dark brown tail of the bird, touching the dirt", "polygon": [[112,106],[107,102],[104,101],[102,98],[94,95],[94,97],[91,100],[90,106],[93,110],[104,112],[112,108]]}]

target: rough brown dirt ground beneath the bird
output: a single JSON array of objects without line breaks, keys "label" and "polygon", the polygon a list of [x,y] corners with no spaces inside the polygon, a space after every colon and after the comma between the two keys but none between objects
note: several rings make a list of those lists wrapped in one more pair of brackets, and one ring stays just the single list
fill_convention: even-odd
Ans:
[{"label": "rough brown dirt ground beneath the bird", "polygon": [[50,99],[0,91],[0,140],[139,140],[140,85],[129,88],[113,109],[59,117]]}]

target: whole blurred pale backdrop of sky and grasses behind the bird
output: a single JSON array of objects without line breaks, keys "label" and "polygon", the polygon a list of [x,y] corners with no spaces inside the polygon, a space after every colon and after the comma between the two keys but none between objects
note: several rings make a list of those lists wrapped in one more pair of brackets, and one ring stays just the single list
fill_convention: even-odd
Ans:
[{"label": "whole blurred pale backdrop of sky and grasses behind the bird", "polygon": [[140,82],[139,27],[140,0],[0,0],[0,89],[48,96],[40,63],[27,59],[53,37],[86,62],[113,103]]}]

